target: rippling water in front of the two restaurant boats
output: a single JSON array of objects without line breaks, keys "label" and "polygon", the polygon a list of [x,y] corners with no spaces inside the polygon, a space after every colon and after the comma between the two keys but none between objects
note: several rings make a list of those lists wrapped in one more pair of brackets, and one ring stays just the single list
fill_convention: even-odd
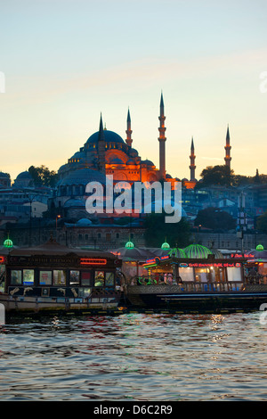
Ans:
[{"label": "rippling water in front of the two restaurant boats", "polygon": [[85,316],[0,327],[0,400],[266,398],[260,314]]}]

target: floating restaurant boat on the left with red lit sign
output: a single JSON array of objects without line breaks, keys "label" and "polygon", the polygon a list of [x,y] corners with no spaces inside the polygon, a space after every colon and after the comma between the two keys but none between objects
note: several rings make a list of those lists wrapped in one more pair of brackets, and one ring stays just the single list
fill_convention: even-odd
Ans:
[{"label": "floating restaurant boat on the left with red lit sign", "polygon": [[0,262],[7,314],[117,310],[120,261],[109,252],[70,249],[52,238],[36,248],[5,249]]}]

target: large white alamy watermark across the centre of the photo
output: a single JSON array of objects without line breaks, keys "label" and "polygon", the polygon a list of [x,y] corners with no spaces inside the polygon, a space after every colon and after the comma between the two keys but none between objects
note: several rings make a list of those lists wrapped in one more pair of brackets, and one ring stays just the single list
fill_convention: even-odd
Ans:
[{"label": "large white alamy watermark across the centre of the photo", "polygon": [[182,182],[128,182],[115,185],[113,176],[106,176],[105,187],[100,182],[90,182],[85,208],[90,214],[166,213],[166,223],[178,223],[182,218]]}]

